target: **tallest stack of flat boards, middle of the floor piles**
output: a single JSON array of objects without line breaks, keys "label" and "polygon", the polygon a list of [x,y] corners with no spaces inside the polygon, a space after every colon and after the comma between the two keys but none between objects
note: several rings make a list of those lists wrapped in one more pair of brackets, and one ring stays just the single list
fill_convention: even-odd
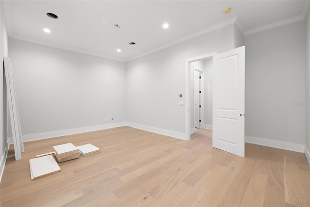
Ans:
[{"label": "tallest stack of flat boards, middle of the floor piles", "polygon": [[55,156],[58,162],[79,158],[80,153],[78,147],[72,143],[60,144],[53,147],[55,149]]}]

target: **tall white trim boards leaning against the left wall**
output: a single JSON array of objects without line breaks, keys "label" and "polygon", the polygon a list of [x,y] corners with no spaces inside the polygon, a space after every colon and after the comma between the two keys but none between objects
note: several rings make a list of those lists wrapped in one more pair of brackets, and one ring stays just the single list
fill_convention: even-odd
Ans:
[{"label": "tall white trim boards leaning against the left wall", "polygon": [[[12,65],[9,57],[3,57],[4,83],[6,86],[6,98],[11,117],[15,160],[21,159],[21,153],[25,151],[21,134],[20,120],[16,101],[15,86],[13,80]],[[6,110],[6,109],[5,109]],[[7,120],[7,119],[5,119]],[[8,124],[8,123],[6,123]]]}]

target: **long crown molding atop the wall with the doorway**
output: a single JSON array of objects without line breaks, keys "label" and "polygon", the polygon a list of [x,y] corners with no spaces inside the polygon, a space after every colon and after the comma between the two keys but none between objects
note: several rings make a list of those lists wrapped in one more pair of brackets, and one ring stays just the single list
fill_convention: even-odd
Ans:
[{"label": "long crown molding atop the wall with the doorway", "polygon": [[220,28],[226,27],[226,26],[228,26],[228,25],[234,24],[235,21],[236,21],[236,18],[237,18],[237,16],[235,16],[235,17],[233,17],[233,18],[230,18],[230,19],[227,19],[227,20],[222,21],[222,22],[220,22],[220,23],[218,23],[218,24],[215,24],[215,25],[213,25],[213,26],[211,26],[211,27],[205,28],[205,29],[200,30],[200,31],[198,31],[198,32],[194,32],[194,33],[189,34],[189,35],[187,35],[187,36],[185,36],[185,37],[181,37],[181,38],[179,38],[179,39],[177,39],[177,40],[174,40],[174,41],[172,41],[172,42],[170,42],[170,43],[168,43],[168,44],[165,44],[165,45],[160,46],[160,47],[158,47],[158,48],[155,48],[155,49],[152,49],[152,50],[150,50],[150,51],[144,52],[144,53],[142,53],[142,54],[140,54],[140,55],[138,55],[138,56],[135,56],[135,57],[133,57],[133,58],[127,59],[126,61],[129,62],[129,61],[136,60],[136,59],[138,59],[138,58],[141,58],[141,57],[143,57],[143,56],[152,54],[152,53],[157,52],[157,51],[159,51],[159,50],[162,50],[162,49],[165,49],[165,48],[169,48],[169,47],[171,47],[171,46],[177,45],[177,44],[179,44],[179,43],[182,43],[182,42],[185,42],[185,41],[187,41],[187,40],[193,39],[193,38],[195,38],[195,37],[201,36],[201,35],[203,35],[203,34],[206,34],[206,33],[209,33],[209,32],[215,31],[215,30],[218,30],[218,29],[220,29]]}]

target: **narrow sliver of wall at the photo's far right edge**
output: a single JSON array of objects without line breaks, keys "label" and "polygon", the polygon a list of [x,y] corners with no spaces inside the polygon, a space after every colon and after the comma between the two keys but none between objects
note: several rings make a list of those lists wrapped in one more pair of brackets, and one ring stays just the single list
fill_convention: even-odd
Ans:
[{"label": "narrow sliver of wall at the photo's far right edge", "polygon": [[306,148],[305,154],[310,164],[310,14],[306,20]]}]

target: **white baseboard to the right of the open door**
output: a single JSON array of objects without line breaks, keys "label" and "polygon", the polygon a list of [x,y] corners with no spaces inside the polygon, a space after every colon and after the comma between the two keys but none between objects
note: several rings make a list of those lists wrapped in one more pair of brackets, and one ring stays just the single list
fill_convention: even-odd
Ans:
[{"label": "white baseboard to the right of the open door", "polygon": [[279,149],[286,149],[286,150],[290,150],[294,152],[304,153],[304,150],[305,150],[304,144],[289,143],[289,142],[283,142],[283,141],[278,141],[278,140],[269,140],[269,139],[264,139],[264,138],[251,137],[251,136],[245,136],[245,142],[259,144],[263,146],[275,147]]}]

